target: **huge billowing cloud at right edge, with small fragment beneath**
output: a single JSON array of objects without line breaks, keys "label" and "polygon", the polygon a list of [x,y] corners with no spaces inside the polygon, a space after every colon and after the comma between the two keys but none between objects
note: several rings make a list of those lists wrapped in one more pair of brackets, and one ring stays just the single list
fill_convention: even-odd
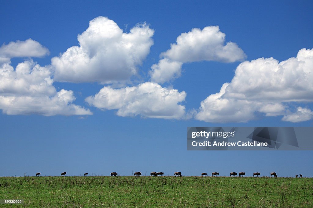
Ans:
[{"label": "huge billowing cloud at right edge, with small fragment beneath", "polygon": [[313,49],[301,49],[297,57],[279,63],[273,58],[245,61],[236,68],[230,83],[201,102],[195,118],[207,122],[247,122],[255,112],[284,115],[284,121],[312,119],[310,109],[290,102],[313,102]]}]

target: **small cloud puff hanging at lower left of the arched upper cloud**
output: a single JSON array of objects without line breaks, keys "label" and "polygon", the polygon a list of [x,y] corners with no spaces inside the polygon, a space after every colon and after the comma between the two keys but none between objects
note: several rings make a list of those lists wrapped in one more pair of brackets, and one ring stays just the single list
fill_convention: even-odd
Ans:
[{"label": "small cloud puff hanging at lower left of the arched upper cloud", "polygon": [[172,61],[167,58],[159,60],[158,64],[151,66],[151,80],[163,84],[171,79],[175,79],[181,75],[182,63]]}]

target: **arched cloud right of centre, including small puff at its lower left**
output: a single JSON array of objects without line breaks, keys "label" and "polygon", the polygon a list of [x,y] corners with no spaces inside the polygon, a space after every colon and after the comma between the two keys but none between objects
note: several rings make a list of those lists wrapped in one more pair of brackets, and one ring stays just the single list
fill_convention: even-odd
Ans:
[{"label": "arched cloud right of centre, including small puff at its lower left", "polygon": [[[203,30],[193,28],[188,33],[182,33],[177,37],[176,43],[171,44],[170,49],[161,53],[163,59],[151,66],[151,80],[162,84],[177,78],[181,73],[181,65],[187,62],[229,63],[244,60],[244,51],[236,43],[225,43],[225,36],[218,26],[204,27]],[[175,67],[173,63],[176,63]]]}]

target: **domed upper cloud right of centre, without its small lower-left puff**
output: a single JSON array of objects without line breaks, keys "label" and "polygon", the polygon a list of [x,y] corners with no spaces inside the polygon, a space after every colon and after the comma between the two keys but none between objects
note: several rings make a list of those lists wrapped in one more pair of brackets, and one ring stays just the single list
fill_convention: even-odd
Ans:
[{"label": "domed upper cloud right of centre, without its small lower-left puff", "polygon": [[193,28],[188,33],[177,37],[176,43],[161,55],[183,63],[194,61],[242,61],[246,58],[244,51],[236,43],[225,45],[225,33],[218,26]]}]

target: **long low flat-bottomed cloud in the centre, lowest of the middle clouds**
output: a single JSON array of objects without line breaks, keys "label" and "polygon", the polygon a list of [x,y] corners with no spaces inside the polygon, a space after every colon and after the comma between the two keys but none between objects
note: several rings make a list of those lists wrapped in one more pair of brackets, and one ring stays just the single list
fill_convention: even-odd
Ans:
[{"label": "long low flat-bottomed cloud in the centre, lowest of the middle clouds", "polygon": [[100,109],[118,109],[119,116],[136,116],[162,119],[181,119],[185,116],[186,93],[168,89],[153,82],[133,87],[113,89],[103,87],[95,96],[85,100]]}]

